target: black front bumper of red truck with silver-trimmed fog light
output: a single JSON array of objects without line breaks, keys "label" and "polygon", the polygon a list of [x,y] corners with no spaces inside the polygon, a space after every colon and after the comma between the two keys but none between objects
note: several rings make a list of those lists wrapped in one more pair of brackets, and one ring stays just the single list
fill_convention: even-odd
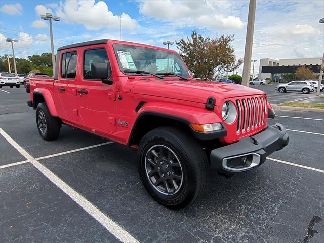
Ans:
[{"label": "black front bumper of red truck with silver-trimmed fog light", "polygon": [[286,128],[276,123],[254,136],[212,150],[211,167],[225,174],[247,171],[262,164],[269,154],[284,148],[288,143]]}]

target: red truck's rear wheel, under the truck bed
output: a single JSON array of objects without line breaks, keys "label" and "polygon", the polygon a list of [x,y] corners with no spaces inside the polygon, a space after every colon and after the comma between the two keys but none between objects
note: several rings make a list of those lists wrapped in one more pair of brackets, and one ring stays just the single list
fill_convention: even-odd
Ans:
[{"label": "red truck's rear wheel, under the truck bed", "polygon": [[39,103],[36,109],[36,124],[39,134],[44,140],[56,140],[60,135],[61,122],[57,117],[51,116],[46,103]]}]

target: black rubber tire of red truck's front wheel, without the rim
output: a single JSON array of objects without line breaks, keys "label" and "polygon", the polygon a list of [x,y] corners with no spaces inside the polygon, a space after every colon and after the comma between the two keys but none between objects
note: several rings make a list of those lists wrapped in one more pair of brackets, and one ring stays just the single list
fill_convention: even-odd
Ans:
[{"label": "black rubber tire of red truck's front wheel, without the rim", "polygon": [[[182,167],[182,184],[173,195],[158,191],[150,181],[145,166],[150,148],[162,145],[171,149]],[[174,127],[159,127],[144,135],[139,144],[139,175],[150,196],[169,209],[182,209],[203,195],[210,180],[207,155],[192,134]]]}]

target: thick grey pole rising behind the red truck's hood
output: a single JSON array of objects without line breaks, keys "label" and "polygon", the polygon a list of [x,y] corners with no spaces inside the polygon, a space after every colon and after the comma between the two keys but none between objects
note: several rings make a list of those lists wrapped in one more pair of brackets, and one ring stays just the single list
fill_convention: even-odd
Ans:
[{"label": "thick grey pole rising behind the red truck's hood", "polygon": [[250,81],[250,68],[251,68],[251,56],[252,56],[253,31],[254,31],[256,5],[257,5],[257,0],[250,0],[247,37],[245,41],[243,77],[242,77],[242,85],[247,87],[249,86],[249,81]]}]

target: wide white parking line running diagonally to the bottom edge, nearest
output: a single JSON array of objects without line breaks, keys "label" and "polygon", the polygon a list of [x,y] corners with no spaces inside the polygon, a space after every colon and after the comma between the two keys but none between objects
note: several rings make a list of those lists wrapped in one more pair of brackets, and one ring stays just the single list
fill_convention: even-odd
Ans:
[{"label": "wide white parking line running diagonally to the bottom edge, nearest", "polygon": [[120,227],[118,224],[112,221],[107,215],[102,213],[96,206],[89,202],[85,197],[78,194],[73,188],[62,181],[51,170],[34,159],[26,150],[18,145],[2,128],[0,128],[0,134],[3,135],[6,140],[23,155],[33,166],[43,173],[51,182],[53,182],[58,188],[60,188],[65,194],[67,194],[73,201],[75,201],[80,207],[82,207],[89,215],[102,224],[111,234],[113,234],[121,242],[138,242],[130,233]]}]

